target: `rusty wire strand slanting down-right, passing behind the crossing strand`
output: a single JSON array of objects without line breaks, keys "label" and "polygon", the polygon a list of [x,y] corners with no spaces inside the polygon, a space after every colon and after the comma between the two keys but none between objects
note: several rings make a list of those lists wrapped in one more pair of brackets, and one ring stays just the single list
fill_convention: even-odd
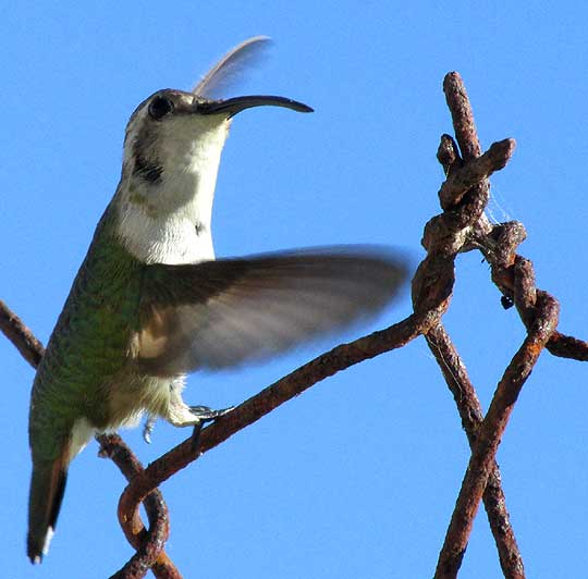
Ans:
[{"label": "rusty wire strand slanting down-right, passing behind the crossing strand", "polygon": [[[469,446],[474,451],[483,414],[476,391],[467,375],[466,367],[441,323],[429,330],[426,338],[453,394],[462,418],[462,426],[466,431]],[[524,579],[523,557],[506,510],[506,498],[495,460],[492,460],[490,466],[482,501],[504,577],[506,579]]]}]

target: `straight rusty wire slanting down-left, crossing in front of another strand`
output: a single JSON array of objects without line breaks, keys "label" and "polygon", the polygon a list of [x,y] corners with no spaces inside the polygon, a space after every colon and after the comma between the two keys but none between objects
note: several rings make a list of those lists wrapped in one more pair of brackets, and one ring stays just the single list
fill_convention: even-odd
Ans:
[{"label": "straight rusty wire slanting down-left, crossing in front of another strand", "polygon": [[538,295],[536,309],[536,321],[509,364],[498,384],[488,414],[478,429],[477,444],[462,482],[445,542],[439,555],[434,579],[457,577],[474,518],[514,404],[558,325],[559,304],[547,293],[541,292]]}]

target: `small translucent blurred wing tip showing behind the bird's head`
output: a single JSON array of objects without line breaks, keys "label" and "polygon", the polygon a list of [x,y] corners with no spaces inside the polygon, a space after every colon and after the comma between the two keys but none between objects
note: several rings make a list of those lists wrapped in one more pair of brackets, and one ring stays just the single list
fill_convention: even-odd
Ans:
[{"label": "small translucent blurred wing tip showing behind the bird's head", "polygon": [[192,90],[194,95],[215,100],[225,96],[226,90],[238,83],[243,74],[264,60],[271,40],[267,36],[254,36],[230,50]]}]

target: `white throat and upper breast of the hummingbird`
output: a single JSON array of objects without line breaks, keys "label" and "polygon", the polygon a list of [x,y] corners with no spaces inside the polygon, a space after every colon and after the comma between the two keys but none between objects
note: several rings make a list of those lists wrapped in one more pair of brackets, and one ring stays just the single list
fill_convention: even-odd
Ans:
[{"label": "white throat and upper breast of the hummingbird", "polygon": [[[215,259],[212,201],[228,123],[199,128],[170,126],[157,155],[163,159],[161,181],[148,183],[124,175],[117,197],[118,230],[125,248],[146,263],[195,263]],[[175,134],[172,132],[175,131]]]}]

